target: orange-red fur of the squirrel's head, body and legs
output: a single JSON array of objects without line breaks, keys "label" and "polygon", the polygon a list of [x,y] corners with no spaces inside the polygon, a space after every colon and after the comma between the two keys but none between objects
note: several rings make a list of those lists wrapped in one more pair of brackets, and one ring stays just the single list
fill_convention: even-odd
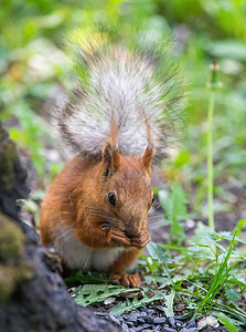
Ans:
[{"label": "orange-red fur of the squirrel's head, body and legs", "polygon": [[[116,258],[110,258],[111,253],[108,260],[105,258],[105,268],[113,279],[127,286],[139,286],[140,279],[137,274],[128,276],[124,271],[150,241],[147,214],[152,201],[151,158],[152,152],[149,148],[139,158],[121,156],[118,149],[111,149],[110,146],[105,147],[100,160],[74,157],[55,178],[42,203],[42,243],[56,246],[61,252],[63,245],[67,245],[64,247],[64,255],[66,256],[68,248],[67,261],[72,268],[69,257],[74,255],[78,260],[78,252],[73,249],[76,241],[90,250],[85,253],[88,255],[87,258],[83,257],[84,247],[76,245],[84,259],[81,268],[89,259],[93,264],[92,255],[95,255],[96,264],[99,264],[96,256],[98,252],[121,248],[121,251],[114,253]],[[115,206],[108,201],[109,193],[115,195]],[[103,225],[109,227],[101,228]],[[61,256],[63,259],[63,253]],[[64,262],[67,263],[65,257]],[[107,267],[109,262],[110,266]]]}]

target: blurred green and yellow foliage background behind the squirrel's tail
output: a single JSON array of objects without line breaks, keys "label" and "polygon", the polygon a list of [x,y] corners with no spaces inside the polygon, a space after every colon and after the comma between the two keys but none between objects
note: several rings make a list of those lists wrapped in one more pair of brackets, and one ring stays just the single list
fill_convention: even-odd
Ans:
[{"label": "blurred green and yellow foliage background behind the squirrel's tail", "polygon": [[51,113],[64,96],[69,65],[65,41],[95,22],[114,22],[129,30],[145,24],[177,41],[189,82],[185,142],[162,174],[168,184],[182,183],[191,209],[199,214],[206,200],[208,64],[217,60],[223,87],[216,95],[214,118],[215,208],[237,208],[246,186],[244,0],[2,0],[0,120],[32,160],[39,175],[35,189],[47,185],[62,167]]}]

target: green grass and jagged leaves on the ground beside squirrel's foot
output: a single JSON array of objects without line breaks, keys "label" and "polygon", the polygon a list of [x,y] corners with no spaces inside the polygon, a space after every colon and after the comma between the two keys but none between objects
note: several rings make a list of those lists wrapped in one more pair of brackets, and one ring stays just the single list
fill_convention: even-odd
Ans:
[{"label": "green grass and jagged leaves on the ground beside squirrel's foot", "polygon": [[[246,245],[236,237],[243,224],[246,225],[246,220],[238,222],[234,234],[214,232],[201,224],[186,248],[150,242],[147,246],[149,255],[142,255],[139,267],[146,282],[142,288],[108,286],[104,277],[78,272],[67,282],[76,280],[85,284],[78,286],[72,295],[82,305],[120,297],[120,303],[110,309],[116,315],[162,300],[165,314],[172,317],[173,301],[179,299],[185,303],[188,317],[196,319],[208,313],[218,317],[223,313],[222,322],[245,326],[245,307],[240,308],[239,303],[244,302],[246,290],[246,252],[235,248],[238,242]],[[128,298],[124,301],[125,294]]]}]

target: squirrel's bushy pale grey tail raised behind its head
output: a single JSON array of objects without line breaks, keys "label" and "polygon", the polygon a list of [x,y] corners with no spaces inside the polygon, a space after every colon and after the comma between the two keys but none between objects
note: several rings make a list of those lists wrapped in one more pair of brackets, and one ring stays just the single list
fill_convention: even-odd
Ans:
[{"label": "squirrel's bushy pale grey tail raised behind its head", "polygon": [[63,142],[84,157],[100,158],[114,123],[121,155],[142,156],[151,144],[159,164],[180,134],[184,105],[185,84],[169,48],[77,44],[71,95],[57,112]]}]

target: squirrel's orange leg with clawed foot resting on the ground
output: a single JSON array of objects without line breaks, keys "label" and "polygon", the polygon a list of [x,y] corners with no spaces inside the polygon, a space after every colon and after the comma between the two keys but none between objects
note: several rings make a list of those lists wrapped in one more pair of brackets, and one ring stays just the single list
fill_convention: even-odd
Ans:
[{"label": "squirrel's orange leg with clawed foot resting on the ground", "polygon": [[140,287],[141,280],[138,273],[128,274],[125,272],[125,269],[136,261],[139,253],[140,250],[137,248],[124,250],[109,269],[111,279],[119,281],[122,286]]}]

